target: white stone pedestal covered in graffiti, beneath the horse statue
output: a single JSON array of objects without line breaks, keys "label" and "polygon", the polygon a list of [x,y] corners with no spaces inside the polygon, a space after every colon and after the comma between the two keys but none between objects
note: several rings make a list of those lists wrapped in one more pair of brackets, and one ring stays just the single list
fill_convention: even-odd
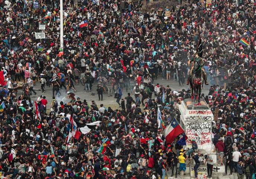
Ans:
[{"label": "white stone pedestal covered in graffiti, beneath the horse statue", "polygon": [[192,147],[190,140],[194,139],[199,150],[211,152],[214,116],[204,100],[201,100],[200,103],[201,105],[194,106],[194,100],[192,99],[182,101],[179,105],[180,125],[188,136],[187,147]]}]

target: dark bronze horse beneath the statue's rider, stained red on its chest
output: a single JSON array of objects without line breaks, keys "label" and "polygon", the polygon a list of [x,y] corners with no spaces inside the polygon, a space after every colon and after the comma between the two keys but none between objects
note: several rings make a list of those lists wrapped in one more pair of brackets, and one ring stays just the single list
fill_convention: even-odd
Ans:
[{"label": "dark bronze horse beneath the statue's rider, stained red on its chest", "polygon": [[[195,68],[199,66],[198,62],[195,62]],[[204,84],[204,78],[202,77],[201,70],[198,71],[192,71],[192,75],[189,80],[190,87],[191,87],[191,99],[194,99],[195,106],[201,105],[200,98],[201,98],[201,92]],[[198,100],[198,103],[196,104],[196,100]]]}]

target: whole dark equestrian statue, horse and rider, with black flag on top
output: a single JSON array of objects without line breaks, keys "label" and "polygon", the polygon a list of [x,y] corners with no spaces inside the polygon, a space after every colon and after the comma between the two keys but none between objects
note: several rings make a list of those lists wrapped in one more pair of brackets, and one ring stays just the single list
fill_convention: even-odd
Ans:
[{"label": "whole dark equestrian statue, horse and rider, with black flag on top", "polygon": [[[190,84],[190,87],[191,87],[191,99],[194,99],[195,106],[198,106],[198,105],[201,105],[200,97],[201,97],[203,84],[205,83],[205,85],[208,85],[207,74],[203,68],[204,60],[202,59],[201,38],[199,38],[195,57],[192,60],[188,61],[188,66],[191,69],[189,71],[187,84]],[[196,104],[197,99],[198,99],[198,103]]]}]

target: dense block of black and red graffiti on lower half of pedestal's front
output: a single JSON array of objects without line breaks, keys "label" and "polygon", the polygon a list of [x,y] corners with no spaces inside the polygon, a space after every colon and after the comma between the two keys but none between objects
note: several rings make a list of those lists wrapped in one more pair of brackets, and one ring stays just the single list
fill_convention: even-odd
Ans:
[{"label": "dense block of black and red graffiti on lower half of pedestal's front", "polygon": [[211,122],[190,122],[186,124],[186,135],[189,140],[194,139],[198,145],[211,145]]}]

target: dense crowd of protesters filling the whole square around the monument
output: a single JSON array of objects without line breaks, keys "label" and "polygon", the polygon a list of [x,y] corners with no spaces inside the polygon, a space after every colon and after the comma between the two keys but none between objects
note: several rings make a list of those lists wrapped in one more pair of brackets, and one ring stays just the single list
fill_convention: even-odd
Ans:
[{"label": "dense crowd of protesters filling the whole square around the monument", "polygon": [[[179,121],[178,105],[191,98],[191,91],[182,86],[199,38],[210,84],[209,94],[202,97],[212,112],[219,108],[212,124],[218,162],[225,165],[224,175],[230,167],[239,178],[252,178],[256,171],[253,0],[211,4],[192,0],[185,5],[175,1],[146,10],[143,6],[153,1],[63,3],[60,49],[59,1],[0,0],[1,178],[164,179],[168,170],[183,178],[186,160],[192,159],[198,168],[196,144],[187,152],[177,140],[165,143],[157,109],[165,126],[174,118]],[[39,30],[41,24],[45,30]],[[39,32],[45,33],[44,39],[36,39]],[[155,84],[159,78],[177,80],[180,90]],[[38,82],[41,91],[35,92]],[[99,103],[76,97],[76,84],[87,93],[97,86]],[[43,96],[45,86],[52,86],[51,104]],[[62,88],[68,103],[55,99],[66,95],[60,93]],[[41,96],[34,102],[32,93]],[[105,107],[103,93],[115,97],[119,109]],[[210,178],[211,156],[205,156],[205,162]]]}]

